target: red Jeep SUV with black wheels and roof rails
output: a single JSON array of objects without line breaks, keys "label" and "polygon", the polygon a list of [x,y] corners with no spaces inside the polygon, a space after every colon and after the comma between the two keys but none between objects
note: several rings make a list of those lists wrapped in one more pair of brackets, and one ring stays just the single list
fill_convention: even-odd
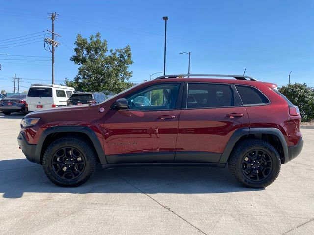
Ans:
[{"label": "red Jeep SUV with black wheels and roof rails", "polygon": [[18,143],[59,186],[83,184],[98,163],[228,164],[240,183],[263,188],[303,146],[299,109],[276,87],[248,76],[162,76],[100,104],[30,113]]}]

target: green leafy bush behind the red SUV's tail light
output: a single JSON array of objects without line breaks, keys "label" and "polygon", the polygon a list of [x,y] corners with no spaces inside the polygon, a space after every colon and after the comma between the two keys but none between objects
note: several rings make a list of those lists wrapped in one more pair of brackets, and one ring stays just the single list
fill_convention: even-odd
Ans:
[{"label": "green leafy bush behind the red SUV's tail light", "polygon": [[303,121],[314,119],[314,92],[305,83],[283,86],[279,91],[299,107]]}]

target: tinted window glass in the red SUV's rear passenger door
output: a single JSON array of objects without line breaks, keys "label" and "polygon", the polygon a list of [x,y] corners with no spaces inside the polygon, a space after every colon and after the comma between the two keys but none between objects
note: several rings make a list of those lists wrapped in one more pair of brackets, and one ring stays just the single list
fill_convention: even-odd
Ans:
[{"label": "tinted window glass in the red SUV's rear passenger door", "polygon": [[230,85],[188,83],[186,108],[230,107],[235,105]]}]

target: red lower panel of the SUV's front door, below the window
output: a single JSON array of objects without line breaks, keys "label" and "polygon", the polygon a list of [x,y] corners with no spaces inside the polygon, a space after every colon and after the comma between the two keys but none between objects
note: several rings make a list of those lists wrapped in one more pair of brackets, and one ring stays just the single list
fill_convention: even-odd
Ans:
[{"label": "red lower panel of the SUV's front door, below the window", "polygon": [[[103,132],[108,163],[173,162],[180,110],[109,110]],[[160,116],[173,118],[160,118]]]}]

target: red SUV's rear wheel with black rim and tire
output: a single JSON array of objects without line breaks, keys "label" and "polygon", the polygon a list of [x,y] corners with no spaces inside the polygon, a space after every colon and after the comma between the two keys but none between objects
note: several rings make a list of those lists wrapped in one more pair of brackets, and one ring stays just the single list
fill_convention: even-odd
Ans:
[{"label": "red SUV's rear wheel with black rim and tire", "polygon": [[265,188],[273,183],[280,166],[280,157],[274,146],[259,139],[238,143],[228,160],[233,177],[248,188]]}]

